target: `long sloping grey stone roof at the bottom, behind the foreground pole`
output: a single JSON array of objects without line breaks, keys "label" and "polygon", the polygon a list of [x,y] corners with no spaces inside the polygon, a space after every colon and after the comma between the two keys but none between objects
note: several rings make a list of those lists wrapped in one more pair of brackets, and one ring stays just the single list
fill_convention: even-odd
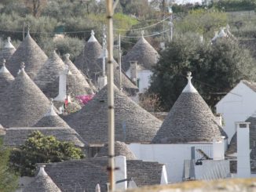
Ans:
[{"label": "long sloping grey stone roof at the bottom, behind the foreground pole", "polygon": [[[157,162],[127,160],[127,177],[137,186],[160,184],[163,165]],[[46,165],[46,172],[63,192],[95,191],[99,183],[101,192],[107,191],[108,158],[89,158]],[[161,174],[160,174],[161,172]]]}]

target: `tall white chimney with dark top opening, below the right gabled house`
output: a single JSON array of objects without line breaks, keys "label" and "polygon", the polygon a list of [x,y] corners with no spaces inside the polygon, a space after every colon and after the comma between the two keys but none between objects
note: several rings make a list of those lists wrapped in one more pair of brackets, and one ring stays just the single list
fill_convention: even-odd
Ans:
[{"label": "tall white chimney with dark top opening, below the right gabled house", "polygon": [[250,122],[236,122],[237,132],[237,177],[251,177]]}]

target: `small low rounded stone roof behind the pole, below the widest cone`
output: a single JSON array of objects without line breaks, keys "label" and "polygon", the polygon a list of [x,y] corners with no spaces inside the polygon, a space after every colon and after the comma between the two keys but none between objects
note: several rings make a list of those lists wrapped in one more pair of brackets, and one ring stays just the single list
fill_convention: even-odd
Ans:
[{"label": "small low rounded stone roof behind the pole, below the widest cone", "polygon": [[[115,141],[115,156],[123,155],[126,157],[126,160],[135,160],[137,159],[133,152],[127,147],[126,143]],[[100,152],[97,154],[97,157],[108,156],[108,144],[105,144],[101,148]]]}]

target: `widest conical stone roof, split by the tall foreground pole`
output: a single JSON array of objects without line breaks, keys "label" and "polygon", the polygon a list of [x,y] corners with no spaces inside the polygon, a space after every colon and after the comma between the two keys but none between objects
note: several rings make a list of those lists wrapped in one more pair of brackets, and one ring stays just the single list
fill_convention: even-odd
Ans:
[{"label": "widest conical stone roof, split by the tall foreground pole", "polygon": [[[125,143],[150,143],[162,121],[155,118],[116,87],[115,139]],[[108,142],[107,86],[97,92],[81,110],[65,120],[90,144]]]}]

